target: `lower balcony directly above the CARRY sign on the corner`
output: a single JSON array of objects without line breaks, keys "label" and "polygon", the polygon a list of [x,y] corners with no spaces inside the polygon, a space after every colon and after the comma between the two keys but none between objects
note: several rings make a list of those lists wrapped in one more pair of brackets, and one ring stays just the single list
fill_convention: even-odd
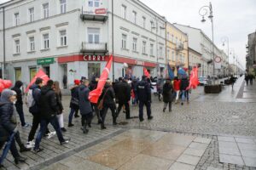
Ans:
[{"label": "lower balcony directly above the CARRY sign on the corner", "polygon": [[90,54],[106,54],[108,53],[107,42],[102,43],[89,43],[82,42],[81,53],[90,53]]}]

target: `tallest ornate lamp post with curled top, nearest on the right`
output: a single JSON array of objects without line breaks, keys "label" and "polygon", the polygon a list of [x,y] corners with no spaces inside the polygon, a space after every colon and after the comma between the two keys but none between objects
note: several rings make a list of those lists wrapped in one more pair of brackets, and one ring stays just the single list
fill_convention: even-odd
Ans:
[{"label": "tallest ornate lamp post with curled top, nearest on the right", "polygon": [[207,14],[208,15],[208,18],[209,20],[211,20],[211,23],[212,23],[212,63],[213,63],[213,84],[215,84],[215,65],[214,65],[214,34],[213,34],[213,14],[212,14],[212,3],[210,2],[209,3],[209,6],[205,5],[205,6],[202,6],[200,9],[199,9],[199,14],[201,15],[202,19],[201,19],[201,22],[205,22],[207,20],[205,20],[205,16]]}]

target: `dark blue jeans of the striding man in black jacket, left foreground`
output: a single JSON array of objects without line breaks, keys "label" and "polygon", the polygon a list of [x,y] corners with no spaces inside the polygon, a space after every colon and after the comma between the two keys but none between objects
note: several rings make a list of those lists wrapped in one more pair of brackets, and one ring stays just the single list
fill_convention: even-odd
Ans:
[{"label": "dark blue jeans of the striding man in black jacket, left foreground", "polygon": [[56,134],[58,136],[60,143],[65,141],[65,139],[62,136],[61,127],[59,125],[59,122],[58,122],[58,119],[56,116],[54,116],[50,119],[42,119],[40,122],[40,130],[38,131],[38,136],[36,138],[34,150],[38,150],[41,139],[42,139],[49,123],[55,128],[55,131],[56,131]]}]

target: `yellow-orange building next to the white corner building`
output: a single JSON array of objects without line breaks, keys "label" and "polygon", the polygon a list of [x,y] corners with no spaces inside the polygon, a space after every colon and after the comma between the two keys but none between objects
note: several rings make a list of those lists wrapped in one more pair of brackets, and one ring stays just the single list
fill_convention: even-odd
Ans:
[{"label": "yellow-orange building next to the white corner building", "polygon": [[177,66],[183,66],[185,70],[189,69],[189,50],[188,37],[176,26],[166,22],[166,56],[172,68],[175,68],[174,74],[177,74]]}]

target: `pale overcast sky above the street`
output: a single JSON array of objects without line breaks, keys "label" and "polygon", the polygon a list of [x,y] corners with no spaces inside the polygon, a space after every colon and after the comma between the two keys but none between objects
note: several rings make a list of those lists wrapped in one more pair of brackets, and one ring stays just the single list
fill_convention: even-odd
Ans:
[{"label": "pale overcast sky above the street", "polygon": [[[7,0],[0,0],[4,3]],[[78,0],[76,0],[78,1]],[[199,8],[208,5],[208,0],[141,0],[157,13],[166,16],[171,23],[200,28],[212,37],[211,23],[201,23]],[[247,35],[256,31],[256,0],[212,0],[214,16],[214,42],[223,47],[222,37],[229,37],[230,51],[235,51],[238,59],[245,65]],[[233,58],[230,57],[230,62]]]}]

